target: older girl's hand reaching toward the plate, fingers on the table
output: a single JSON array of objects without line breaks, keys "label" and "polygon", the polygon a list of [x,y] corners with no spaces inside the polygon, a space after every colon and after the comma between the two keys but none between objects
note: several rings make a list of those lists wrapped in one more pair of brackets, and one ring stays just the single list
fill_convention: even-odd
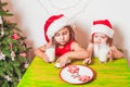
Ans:
[{"label": "older girl's hand reaching toward the plate, fingers on the table", "polygon": [[61,55],[57,60],[56,63],[61,64],[61,67],[64,67],[68,63],[68,57],[66,54]]}]

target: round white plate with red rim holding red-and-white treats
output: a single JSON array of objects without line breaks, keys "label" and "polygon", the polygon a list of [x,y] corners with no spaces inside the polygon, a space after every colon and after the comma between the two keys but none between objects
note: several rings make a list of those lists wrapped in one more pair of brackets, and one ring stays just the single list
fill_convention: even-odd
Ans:
[{"label": "round white plate with red rim holding red-and-white treats", "polygon": [[[73,66],[75,71],[69,71],[70,66]],[[76,67],[76,69],[75,69]],[[75,72],[75,73],[74,73]],[[69,84],[84,84],[89,83],[93,78],[93,71],[90,67],[87,67],[84,65],[68,65],[61,70],[60,76],[61,78]],[[81,80],[81,77],[83,77],[84,80]],[[87,80],[86,80],[87,79]]]}]

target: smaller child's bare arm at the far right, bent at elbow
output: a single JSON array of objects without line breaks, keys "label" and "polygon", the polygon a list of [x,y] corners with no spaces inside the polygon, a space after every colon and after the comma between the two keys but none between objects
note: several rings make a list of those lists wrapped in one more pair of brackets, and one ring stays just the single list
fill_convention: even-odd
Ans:
[{"label": "smaller child's bare arm at the far right, bent at elbow", "polygon": [[110,47],[112,51],[112,58],[118,59],[118,58],[123,58],[123,53],[119,51],[115,46]]}]

